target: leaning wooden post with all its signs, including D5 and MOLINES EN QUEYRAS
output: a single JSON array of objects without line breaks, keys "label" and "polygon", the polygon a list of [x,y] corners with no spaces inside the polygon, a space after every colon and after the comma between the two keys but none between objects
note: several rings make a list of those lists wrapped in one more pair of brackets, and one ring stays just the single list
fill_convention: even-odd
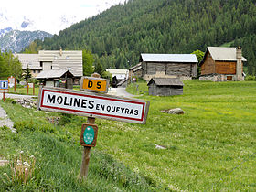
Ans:
[{"label": "leaning wooden post with all its signs, including D5 and MOLINES EN QUEYRAS", "polygon": [[37,107],[39,110],[49,112],[64,112],[88,117],[87,123],[81,127],[80,144],[84,146],[84,150],[78,176],[80,180],[86,180],[91,147],[96,145],[98,135],[98,126],[94,124],[95,118],[145,123],[149,101],[99,94],[98,92],[108,90],[108,81],[101,79],[99,74],[94,74],[92,78],[83,78],[80,87],[84,91],[41,87]]}]

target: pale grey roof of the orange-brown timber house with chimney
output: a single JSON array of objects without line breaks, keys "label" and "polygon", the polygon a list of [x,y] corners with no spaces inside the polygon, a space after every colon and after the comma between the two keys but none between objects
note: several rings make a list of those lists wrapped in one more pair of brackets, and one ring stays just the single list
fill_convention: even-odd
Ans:
[{"label": "pale grey roof of the orange-brown timber house with chimney", "polygon": [[[214,60],[237,61],[237,48],[208,47],[208,51]],[[244,57],[242,61],[247,61]]]}]

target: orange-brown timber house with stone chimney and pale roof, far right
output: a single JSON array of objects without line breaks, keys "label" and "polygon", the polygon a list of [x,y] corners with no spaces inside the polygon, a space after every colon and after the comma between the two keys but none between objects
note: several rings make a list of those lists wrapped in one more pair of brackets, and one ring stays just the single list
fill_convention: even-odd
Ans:
[{"label": "orange-brown timber house with stone chimney and pale roof, far right", "polygon": [[199,64],[199,80],[244,80],[242,68],[245,61],[241,48],[208,47]]}]

